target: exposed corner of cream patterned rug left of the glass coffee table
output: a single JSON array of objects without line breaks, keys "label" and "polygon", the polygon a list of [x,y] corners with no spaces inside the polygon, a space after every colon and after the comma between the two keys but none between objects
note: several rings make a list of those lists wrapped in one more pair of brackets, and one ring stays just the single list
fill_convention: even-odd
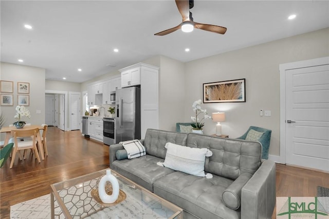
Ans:
[{"label": "exposed corner of cream patterned rug left of the glass coffee table", "polygon": [[10,206],[10,218],[46,219],[51,218],[50,213],[50,194]]}]

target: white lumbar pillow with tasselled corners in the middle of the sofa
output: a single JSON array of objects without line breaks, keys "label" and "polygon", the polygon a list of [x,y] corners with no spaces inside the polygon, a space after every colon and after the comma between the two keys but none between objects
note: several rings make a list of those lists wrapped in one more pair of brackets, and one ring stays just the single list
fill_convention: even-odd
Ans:
[{"label": "white lumbar pillow with tasselled corners in the middle of the sofa", "polygon": [[205,160],[212,152],[206,148],[190,148],[166,143],[167,154],[163,166],[195,176],[206,176]]}]

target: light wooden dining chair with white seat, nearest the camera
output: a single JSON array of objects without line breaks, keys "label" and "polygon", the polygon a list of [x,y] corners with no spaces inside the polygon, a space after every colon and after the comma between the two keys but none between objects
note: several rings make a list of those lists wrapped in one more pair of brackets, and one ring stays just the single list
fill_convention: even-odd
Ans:
[{"label": "light wooden dining chair with white seat, nearest the camera", "polygon": [[[9,167],[10,169],[12,168],[12,166],[14,164],[16,153],[19,154],[19,157],[22,160],[22,155],[21,155],[20,151],[25,150],[25,149],[33,149],[36,159],[38,159],[39,163],[41,162],[38,150],[36,149],[36,133],[38,133],[38,132],[39,132],[38,128],[11,130],[10,133],[13,136],[13,138],[11,138],[10,141],[13,141],[14,149],[12,151],[12,158],[11,158],[10,167]],[[17,140],[21,137],[23,137],[23,138],[31,137],[32,140],[25,140],[25,139],[24,139],[24,141]],[[24,159],[25,159],[25,156],[26,156],[26,151],[24,153]]]}]

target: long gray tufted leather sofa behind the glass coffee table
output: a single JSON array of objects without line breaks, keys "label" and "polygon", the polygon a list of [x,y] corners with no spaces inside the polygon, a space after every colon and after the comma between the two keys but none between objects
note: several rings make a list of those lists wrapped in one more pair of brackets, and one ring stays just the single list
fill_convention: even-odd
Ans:
[{"label": "long gray tufted leather sofa behind the glass coffee table", "polygon": [[[271,218],[276,203],[276,166],[262,160],[257,141],[149,129],[141,140],[147,155],[121,159],[122,144],[109,147],[109,167],[184,209],[184,218]],[[207,148],[205,172],[190,175],[157,165],[167,142]],[[118,159],[117,159],[117,156]]]}]

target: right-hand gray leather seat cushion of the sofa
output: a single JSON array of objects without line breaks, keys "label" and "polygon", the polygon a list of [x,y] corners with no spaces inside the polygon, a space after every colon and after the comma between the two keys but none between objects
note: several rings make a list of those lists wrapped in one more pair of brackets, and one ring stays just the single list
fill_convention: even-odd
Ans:
[{"label": "right-hand gray leather seat cushion of the sofa", "polygon": [[154,182],[154,193],[199,218],[240,218],[240,209],[225,206],[222,194],[232,184],[231,179],[213,176],[211,179],[174,172]]}]

